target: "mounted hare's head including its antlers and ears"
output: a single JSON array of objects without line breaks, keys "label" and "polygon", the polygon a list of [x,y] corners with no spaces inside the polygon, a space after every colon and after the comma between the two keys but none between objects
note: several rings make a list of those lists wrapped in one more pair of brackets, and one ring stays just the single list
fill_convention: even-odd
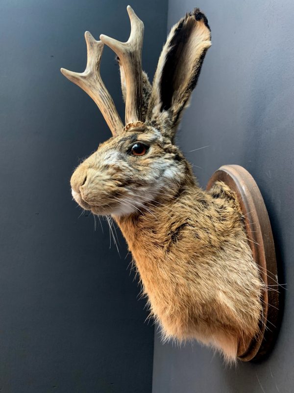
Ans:
[{"label": "mounted hare's head including its antlers and ears", "polygon": [[[174,135],[211,45],[207,19],[196,9],[172,28],[151,87],[141,66],[144,25],[130,6],[127,11],[131,22],[127,42],[105,35],[96,41],[86,32],[86,70],[78,74],[61,69],[93,98],[113,134],[76,168],[71,179],[77,203],[101,215],[138,212],[156,192],[173,195],[187,172],[191,177]],[[103,44],[118,56],[125,126],[100,78]]]}]

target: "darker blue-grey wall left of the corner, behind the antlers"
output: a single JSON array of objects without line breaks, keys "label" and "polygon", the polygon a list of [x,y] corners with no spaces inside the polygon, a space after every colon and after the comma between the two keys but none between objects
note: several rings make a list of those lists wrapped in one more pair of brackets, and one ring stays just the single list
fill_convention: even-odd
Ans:
[{"label": "darker blue-grey wall left of the corner, behind the antlers", "polygon": [[[150,393],[153,328],[127,266],[69,179],[110,137],[94,102],[59,68],[82,71],[84,31],[129,34],[122,0],[0,2],[0,392]],[[152,74],[166,37],[167,1],[133,1],[146,26]],[[119,112],[114,54],[102,77]],[[80,217],[79,217],[80,216]]]}]

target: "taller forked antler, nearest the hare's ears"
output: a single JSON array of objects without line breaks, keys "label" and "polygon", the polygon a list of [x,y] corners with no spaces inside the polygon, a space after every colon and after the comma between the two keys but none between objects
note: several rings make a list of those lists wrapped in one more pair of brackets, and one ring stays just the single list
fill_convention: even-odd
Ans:
[{"label": "taller forked antler, nearest the hare's ears", "polygon": [[142,46],[144,24],[131,6],[127,6],[131,33],[126,42],[120,42],[101,34],[100,40],[119,56],[126,81],[125,124],[141,120],[142,101]]}]

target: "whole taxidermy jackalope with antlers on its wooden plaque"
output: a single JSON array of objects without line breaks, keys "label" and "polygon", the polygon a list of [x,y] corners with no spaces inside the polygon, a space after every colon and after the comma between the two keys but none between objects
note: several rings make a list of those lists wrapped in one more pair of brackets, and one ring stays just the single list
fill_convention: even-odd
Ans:
[{"label": "whole taxidermy jackalope with antlers on its wooden plaque", "polygon": [[[174,142],[211,46],[207,19],[195,9],[173,26],[151,85],[141,65],[144,25],[130,6],[127,12],[127,42],[106,35],[96,41],[86,31],[85,71],[61,69],[95,101],[113,135],[73,172],[73,198],[94,214],[111,215],[121,228],[165,339],[196,338],[229,361],[251,360],[265,352],[267,284],[275,273],[262,270],[267,266],[256,262],[248,242],[248,228],[256,238],[254,223],[246,222],[252,213],[240,193],[247,183],[241,179],[240,186],[238,176],[250,175],[222,167],[204,191]],[[104,44],[120,65],[125,125],[100,77]],[[274,255],[268,232],[266,253]]]}]

